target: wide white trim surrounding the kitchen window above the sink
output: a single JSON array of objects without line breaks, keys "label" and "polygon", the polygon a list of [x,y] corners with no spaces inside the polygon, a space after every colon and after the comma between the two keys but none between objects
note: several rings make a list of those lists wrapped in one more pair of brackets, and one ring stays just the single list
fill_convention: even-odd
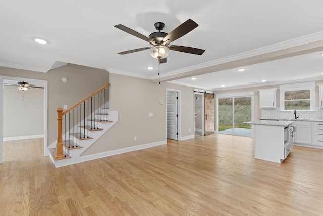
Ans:
[{"label": "wide white trim surrounding the kitchen window above the sink", "polygon": [[285,92],[286,91],[298,91],[309,90],[310,91],[310,109],[309,110],[297,110],[299,112],[315,111],[315,82],[300,82],[279,85],[280,89],[280,111],[293,111],[285,110]]}]

